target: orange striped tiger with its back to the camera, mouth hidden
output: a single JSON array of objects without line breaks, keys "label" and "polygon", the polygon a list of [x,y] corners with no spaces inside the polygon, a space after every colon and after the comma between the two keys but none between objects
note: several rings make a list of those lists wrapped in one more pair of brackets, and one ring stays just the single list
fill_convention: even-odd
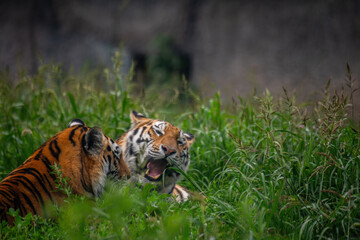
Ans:
[{"label": "orange striped tiger with its back to the camera, mouth hidden", "polygon": [[28,213],[47,217],[47,204],[60,205],[66,197],[59,191],[60,174],[69,180],[71,192],[99,197],[107,175],[128,177],[120,147],[98,127],[87,127],[80,119],[39,147],[25,162],[0,182],[0,222],[13,225],[10,208],[20,216]]}]

